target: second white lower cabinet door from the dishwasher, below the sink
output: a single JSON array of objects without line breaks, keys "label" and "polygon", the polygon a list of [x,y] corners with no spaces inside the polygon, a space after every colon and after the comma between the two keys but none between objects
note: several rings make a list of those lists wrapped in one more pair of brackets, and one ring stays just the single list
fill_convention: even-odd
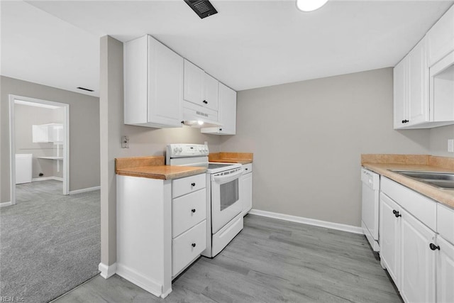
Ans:
[{"label": "second white lower cabinet door from the dishwasher, below the sink", "polygon": [[402,211],[400,293],[405,302],[435,302],[435,232]]}]

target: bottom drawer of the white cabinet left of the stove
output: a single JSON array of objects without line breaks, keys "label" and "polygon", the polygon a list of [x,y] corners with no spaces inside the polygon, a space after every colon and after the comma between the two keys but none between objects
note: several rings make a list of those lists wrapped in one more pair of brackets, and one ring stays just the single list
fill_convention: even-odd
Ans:
[{"label": "bottom drawer of the white cabinet left of the stove", "polygon": [[206,221],[172,240],[172,276],[175,277],[206,248]]}]

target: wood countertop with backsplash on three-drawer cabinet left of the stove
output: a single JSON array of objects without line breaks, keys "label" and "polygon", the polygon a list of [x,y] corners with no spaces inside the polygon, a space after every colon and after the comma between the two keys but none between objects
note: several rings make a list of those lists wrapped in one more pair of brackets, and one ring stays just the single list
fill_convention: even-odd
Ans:
[{"label": "wood countertop with backsplash on three-drawer cabinet left of the stove", "polygon": [[116,158],[117,175],[173,180],[206,172],[206,167],[164,165],[164,156]]}]

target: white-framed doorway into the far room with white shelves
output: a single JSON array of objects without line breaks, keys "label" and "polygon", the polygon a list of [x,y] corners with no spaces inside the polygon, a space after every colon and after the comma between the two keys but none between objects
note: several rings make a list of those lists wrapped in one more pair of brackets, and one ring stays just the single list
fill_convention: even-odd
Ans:
[{"label": "white-framed doorway into the far room with white shelves", "polygon": [[[35,109],[37,112],[47,111],[53,114],[47,118],[48,123],[39,123],[39,120],[35,120],[38,122],[33,125],[30,122],[30,125],[27,125],[25,130],[18,129],[16,124],[18,116],[16,116],[16,114],[19,112],[18,109],[23,110],[25,108]],[[33,119],[36,119],[36,116],[33,116]],[[45,180],[50,186],[52,186],[52,182],[54,182],[54,184],[55,182],[57,182],[57,184],[61,182],[62,189],[59,191],[64,195],[70,194],[69,118],[69,104],[21,97],[12,94],[9,95],[10,181],[12,205],[17,202],[16,183],[21,182],[30,182],[30,184],[32,184],[32,180]],[[18,137],[19,131],[26,131],[26,136]],[[18,150],[18,144],[22,144],[22,142],[18,141],[22,141],[22,138],[31,141],[28,144],[34,144],[33,148],[30,150],[23,149],[26,153],[23,153],[23,150]],[[47,150],[47,154],[43,153],[39,148],[36,148],[37,146],[44,146]],[[43,170],[43,172],[41,172],[41,170]],[[43,189],[43,192],[46,191],[48,191],[48,189]],[[25,191],[25,195],[26,194],[27,192]]]}]

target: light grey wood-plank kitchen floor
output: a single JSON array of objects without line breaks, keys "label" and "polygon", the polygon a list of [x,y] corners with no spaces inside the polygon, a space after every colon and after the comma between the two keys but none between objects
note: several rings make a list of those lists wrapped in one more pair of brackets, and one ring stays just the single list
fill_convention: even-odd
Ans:
[{"label": "light grey wood-plank kitchen floor", "polygon": [[402,302],[364,236],[253,215],[172,289],[159,299],[118,275],[97,276],[57,302]]}]

